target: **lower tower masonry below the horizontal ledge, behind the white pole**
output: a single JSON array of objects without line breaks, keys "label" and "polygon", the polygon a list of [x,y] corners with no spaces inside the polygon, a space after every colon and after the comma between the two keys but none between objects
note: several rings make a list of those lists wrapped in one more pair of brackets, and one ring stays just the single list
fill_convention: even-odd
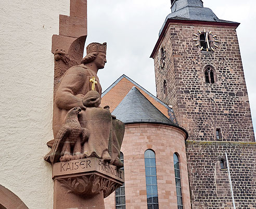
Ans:
[{"label": "lower tower masonry below the horizontal ledge, behind the white pole", "polygon": [[[228,155],[237,209],[256,208],[256,143],[186,142],[188,178],[193,209],[233,208],[227,169]],[[226,166],[226,165],[225,165]]]}]

